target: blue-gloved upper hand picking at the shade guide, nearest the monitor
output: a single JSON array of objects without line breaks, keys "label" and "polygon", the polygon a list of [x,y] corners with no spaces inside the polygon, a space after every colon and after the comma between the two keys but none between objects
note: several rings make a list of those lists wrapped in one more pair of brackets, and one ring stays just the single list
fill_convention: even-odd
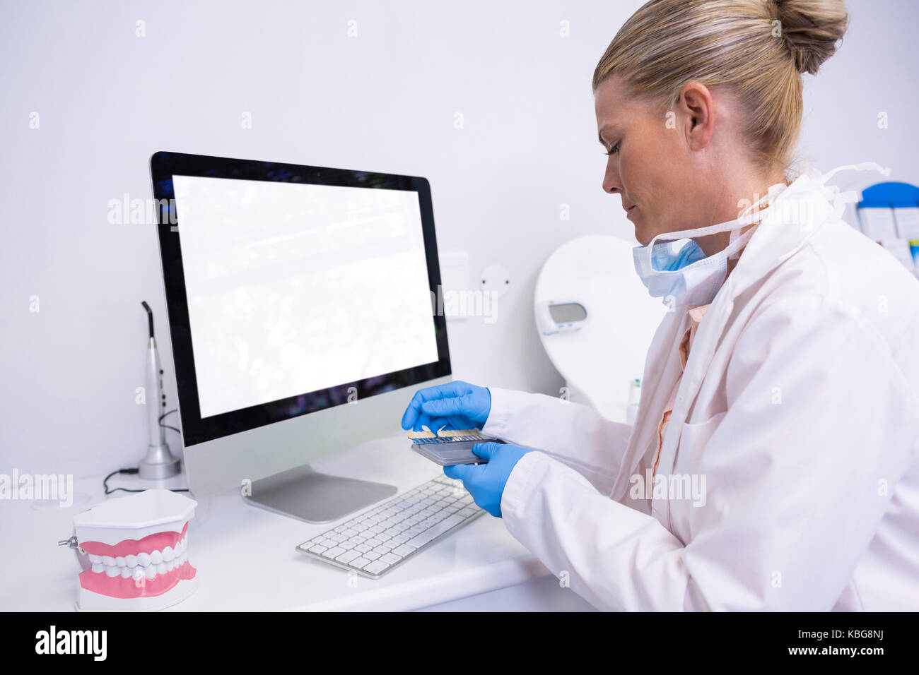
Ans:
[{"label": "blue-gloved upper hand picking at the shade guide, nearest the monitor", "polygon": [[484,387],[456,381],[415,392],[403,414],[403,429],[482,429],[492,410],[492,394]]}]

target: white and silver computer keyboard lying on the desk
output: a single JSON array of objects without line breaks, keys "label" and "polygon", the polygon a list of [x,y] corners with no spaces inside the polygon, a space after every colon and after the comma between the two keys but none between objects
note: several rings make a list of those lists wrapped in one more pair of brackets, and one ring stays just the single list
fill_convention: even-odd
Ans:
[{"label": "white and silver computer keyboard lying on the desk", "polygon": [[380,579],[482,513],[461,481],[439,476],[312,537],[297,550]]}]

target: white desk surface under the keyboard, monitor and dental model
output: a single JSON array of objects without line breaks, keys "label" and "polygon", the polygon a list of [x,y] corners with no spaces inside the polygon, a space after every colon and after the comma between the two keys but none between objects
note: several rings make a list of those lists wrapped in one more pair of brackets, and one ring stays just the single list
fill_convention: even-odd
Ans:
[{"label": "white desk surface under the keyboard, monitor and dental model", "polygon": [[[388,482],[403,492],[442,473],[407,445],[404,433],[397,434],[312,466]],[[0,610],[74,609],[80,568],[74,551],[57,542],[72,534],[74,514],[105,498],[102,478],[74,481],[69,509],[30,501],[0,503],[6,550],[17,554],[3,557]],[[108,481],[110,488],[181,488],[184,483],[184,476],[154,482],[116,475]],[[573,591],[560,588],[504,523],[488,514],[375,580],[349,576],[294,550],[338,522],[302,523],[253,507],[235,490],[198,502],[188,525],[188,554],[198,569],[199,589],[167,611],[591,609]]]}]

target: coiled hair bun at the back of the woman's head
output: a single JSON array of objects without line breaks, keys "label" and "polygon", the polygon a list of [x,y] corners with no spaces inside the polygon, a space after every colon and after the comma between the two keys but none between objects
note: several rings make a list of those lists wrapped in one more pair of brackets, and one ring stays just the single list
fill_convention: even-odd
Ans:
[{"label": "coiled hair bun at the back of the woman's head", "polygon": [[816,74],[848,28],[843,0],[767,0],[799,73]]}]

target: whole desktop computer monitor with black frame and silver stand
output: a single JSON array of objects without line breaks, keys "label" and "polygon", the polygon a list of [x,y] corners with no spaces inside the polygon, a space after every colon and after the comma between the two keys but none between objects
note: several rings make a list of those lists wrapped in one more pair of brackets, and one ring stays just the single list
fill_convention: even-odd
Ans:
[{"label": "whole desktop computer monitor with black frame and silver stand", "polygon": [[309,463],[450,379],[425,178],[156,152],[188,487],[327,523],[395,493]]}]

